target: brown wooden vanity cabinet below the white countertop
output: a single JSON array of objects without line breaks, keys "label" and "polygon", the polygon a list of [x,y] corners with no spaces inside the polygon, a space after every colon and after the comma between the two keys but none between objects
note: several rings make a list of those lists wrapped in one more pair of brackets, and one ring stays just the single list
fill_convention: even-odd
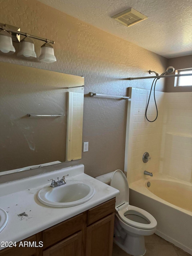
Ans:
[{"label": "brown wooden vanity cabinet below the white countertop", "polygon": [[18,242],[1,250],[0,256],[111,256],[114,212],[115,198],[22,240],[25,247]]}]

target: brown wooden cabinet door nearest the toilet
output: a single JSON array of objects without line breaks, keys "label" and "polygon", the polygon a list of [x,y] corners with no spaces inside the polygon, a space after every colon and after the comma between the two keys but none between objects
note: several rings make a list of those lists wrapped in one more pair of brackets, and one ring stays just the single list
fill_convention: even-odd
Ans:
[{"label": "brown wooden cabinet door nearest the toilet", "polygon": [[115,214],[87,227],[86,256],[111,256]]}]

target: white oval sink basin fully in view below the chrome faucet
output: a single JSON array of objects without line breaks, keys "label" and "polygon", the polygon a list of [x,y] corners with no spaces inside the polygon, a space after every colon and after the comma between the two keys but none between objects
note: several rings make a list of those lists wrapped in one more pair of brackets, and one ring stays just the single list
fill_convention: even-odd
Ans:
[{"label": "white oval sink basin fully in view below the chrome faucet", "polygon": [[67,180],[55,188],[45,186],[38,192],[38,200],[52,207],[70,207],[87,202],[95,194],[94,188],[81,181]]}]

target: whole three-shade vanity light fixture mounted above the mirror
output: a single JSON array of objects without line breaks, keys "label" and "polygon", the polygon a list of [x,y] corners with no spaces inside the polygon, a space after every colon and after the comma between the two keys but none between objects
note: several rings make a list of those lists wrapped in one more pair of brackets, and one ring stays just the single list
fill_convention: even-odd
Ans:
[{"label": "whole three-shade vanity light fixture mounted above the mirror", "polygon": [[20,35],[25,36],[24,39],[20,42],[19,52],[17,53],[17,56],[24,56],[29,59],[36,58],[37,55],[35,53],[35,47],[34,42],[30,38],[34,38],[37,40],[44,41],[45,44],[41,46],[41,54],[38,58],[41,62],[47,62],[52,63],[57,61],[54,49],[51,44],[54,44],[54,41],[41,38],[38,36],[30,35],[25,32],[21,32],[19,28],[2,24],[0,23],[0,29],[2,31],[0,32],[0,51],[3,53],[14,53],[15,48],[13,47],[13,41],[20,42]]}]

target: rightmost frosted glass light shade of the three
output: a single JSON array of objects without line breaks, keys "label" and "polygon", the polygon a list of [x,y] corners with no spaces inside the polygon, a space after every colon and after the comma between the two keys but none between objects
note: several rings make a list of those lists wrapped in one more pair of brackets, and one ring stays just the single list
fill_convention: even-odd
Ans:
[{"label": "rightmost frosted glass light shade of the three", "polygon": [[39,61],[52,63],[57,61],[54,55],[54,49],[49,43],[45,43],[41,46],[41,53],[38,58]]}]

